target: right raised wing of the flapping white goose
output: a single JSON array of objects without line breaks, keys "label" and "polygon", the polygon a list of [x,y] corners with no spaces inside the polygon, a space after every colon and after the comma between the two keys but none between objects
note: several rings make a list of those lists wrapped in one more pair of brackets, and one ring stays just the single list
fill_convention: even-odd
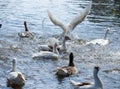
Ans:
[{"label": "right raised wing of the flapping white goose", "polygon": [[89,11],[91,9],[92,1],[90,1],[89,5],[77,16],[75,17],[70,23],[69,27],[72,31],[79,23],[81,23],[85,17],[89,14]]}]

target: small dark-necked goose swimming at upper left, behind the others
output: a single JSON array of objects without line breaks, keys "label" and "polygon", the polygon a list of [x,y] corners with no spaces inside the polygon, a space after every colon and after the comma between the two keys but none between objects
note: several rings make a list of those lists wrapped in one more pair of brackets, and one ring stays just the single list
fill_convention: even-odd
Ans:
[{"label": "small dark-necked goose swimming at upper left, behind the others", "polygon": [[29,29],[27,28],[27,23],[26,21],[24,21],[24,26],[25,26],[25,32],[20,32],[18,33],[18,35],[21,37],[21,38],[33,38],[33,34],[29,31]]}]

